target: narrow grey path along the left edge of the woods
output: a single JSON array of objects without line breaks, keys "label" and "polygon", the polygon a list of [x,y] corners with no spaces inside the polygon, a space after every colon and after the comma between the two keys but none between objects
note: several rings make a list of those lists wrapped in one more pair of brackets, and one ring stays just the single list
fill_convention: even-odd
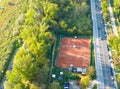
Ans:
[{"label": "narrow grey path along the left edge of the woods", "polygon": [[[16,53],[17,53],[18,50],[19,50],[19,49],[16,49],[14,55],[12,56],[12,59],[11,59],[11,61],[10,61],[10,63],[9,63],[9,66],[8,66],[7,71],[11,71],[11,70],[12,70],[13,59],[14,59],[14,57],[15,57],[15,55],[16,55]],[[2,79],[2,82],[0,83],[0,89],[4,89],[4,82],[5,82],[5,81],[6,81],[6,75],[4,75],[4,78]]]}]

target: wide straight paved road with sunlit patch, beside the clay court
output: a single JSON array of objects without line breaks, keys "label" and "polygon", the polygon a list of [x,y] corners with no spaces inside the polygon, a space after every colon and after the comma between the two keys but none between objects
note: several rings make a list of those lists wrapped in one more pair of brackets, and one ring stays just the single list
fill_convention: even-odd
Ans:
[{"label": "wide straight paved road with sunlit patch, beside the clay court", "polygon": [[98,89],[117,89],[112,79],[113,69],[108,57],[107,36],[99,0],[91,0],[91,13]]}]

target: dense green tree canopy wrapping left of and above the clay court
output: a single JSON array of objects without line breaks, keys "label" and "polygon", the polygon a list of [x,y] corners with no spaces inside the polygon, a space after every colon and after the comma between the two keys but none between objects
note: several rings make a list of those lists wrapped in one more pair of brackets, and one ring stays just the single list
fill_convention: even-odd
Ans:
[{"label": "dense green tree canopy wrapping left of and above the clay court", "polygon": [[6,73],[5,89],[46,89],[55,38],[59,34],[92,35],[89,0],[22,2],[25,7],[21,4],[5,28],[11,28],[9,37],[14,38],[13,47],[18,49],[13,69]]}]

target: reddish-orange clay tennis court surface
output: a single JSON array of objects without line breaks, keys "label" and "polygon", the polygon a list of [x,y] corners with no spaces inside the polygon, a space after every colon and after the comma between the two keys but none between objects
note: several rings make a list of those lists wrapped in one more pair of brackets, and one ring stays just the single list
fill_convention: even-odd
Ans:
[{"label": "reddish-orange clay tennis court surface", "polygon": [[87,68],[90,65],[90,39],[62,38],[56,65],[62,68]]}]

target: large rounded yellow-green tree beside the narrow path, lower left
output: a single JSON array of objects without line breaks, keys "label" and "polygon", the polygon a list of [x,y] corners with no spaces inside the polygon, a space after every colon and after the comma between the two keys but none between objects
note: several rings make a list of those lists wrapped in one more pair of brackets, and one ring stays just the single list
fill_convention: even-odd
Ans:
[{"label": "large rounded yellow-green tree beside the narrow path, lower left", "polygon": [[20,49],[13,62],[13,72],[17,72],[25,81],[32,81],[37,64],[34,56],[26,49]]}]

